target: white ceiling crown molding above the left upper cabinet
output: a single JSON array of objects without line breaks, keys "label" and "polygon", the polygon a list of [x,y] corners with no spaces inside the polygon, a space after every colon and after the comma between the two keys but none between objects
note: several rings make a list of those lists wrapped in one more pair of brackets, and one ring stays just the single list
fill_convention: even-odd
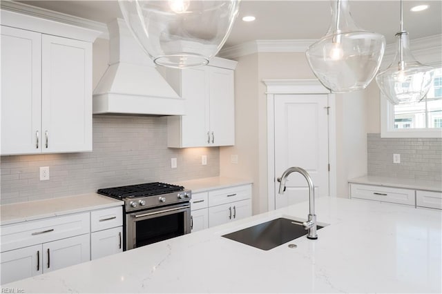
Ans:
[{"label": "white ceiling crown molding above the left upper cabinet", "polygon": [[48,19],[51,21],[57,21],[59,23],[66,23],[71,26],[78,26],[81,28],[97,30],[99,32],[102,32],[102,34],[99,35],[99,38],[109,39],[109,32],[106,24],[100,23],[98,21],[91,21],[89,19],[83,19],[81,17],[74,17],[73,15],[61,12],[55,12],[52,10],[38,8],[35,6],[30,6],[28,4],[9,1],[9,0],[1,0],[0,8],[3,10],[9,10],[12,12],[27,14],[32,17],[39,17],[41,19]]}]

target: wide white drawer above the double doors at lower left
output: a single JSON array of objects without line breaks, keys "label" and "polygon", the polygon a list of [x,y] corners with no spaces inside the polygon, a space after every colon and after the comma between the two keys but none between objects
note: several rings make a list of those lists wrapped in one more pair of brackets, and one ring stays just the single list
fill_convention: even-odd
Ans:
[{"label": "wide white drawer above the double doors at lower left", "polygon": [[1,226],[1,252],[90,232],[89,213]]}]

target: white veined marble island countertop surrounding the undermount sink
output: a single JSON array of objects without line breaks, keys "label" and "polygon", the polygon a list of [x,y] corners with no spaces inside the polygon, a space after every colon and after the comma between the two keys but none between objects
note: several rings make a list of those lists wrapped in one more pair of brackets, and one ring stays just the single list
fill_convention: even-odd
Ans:
[{"label": "white veined marble island countertop surrounding the undermount sink", "polygon": [[308,202],[3,285],[24,293],[441,293],[442,211],[316,199],[317,240],[269,251],[222,235]]}]

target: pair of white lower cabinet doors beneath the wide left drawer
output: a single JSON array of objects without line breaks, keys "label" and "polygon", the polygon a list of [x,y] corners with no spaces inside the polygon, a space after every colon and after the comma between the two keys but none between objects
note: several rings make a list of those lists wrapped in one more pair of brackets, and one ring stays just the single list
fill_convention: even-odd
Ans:
[{"label": "pair of white lower cabinet doors beneath the wide left drawer", "polygon": [[6,284],[90,260],[89,234],[0,253]]}]

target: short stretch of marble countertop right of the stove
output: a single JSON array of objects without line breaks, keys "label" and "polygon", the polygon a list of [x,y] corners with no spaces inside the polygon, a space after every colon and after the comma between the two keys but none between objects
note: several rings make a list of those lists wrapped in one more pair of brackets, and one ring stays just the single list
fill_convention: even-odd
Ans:
[{"label": "short stretch of marble countertop right of the stove", "polygon": [[230,177],[206,177],[204,179],[191,179],[189,181],[175,182],[173,184],[184,186],[186,189],[191,189],[192,193],[200,193],[209,190],[251,183],[252,181],[248,179],[234,179]]}]

